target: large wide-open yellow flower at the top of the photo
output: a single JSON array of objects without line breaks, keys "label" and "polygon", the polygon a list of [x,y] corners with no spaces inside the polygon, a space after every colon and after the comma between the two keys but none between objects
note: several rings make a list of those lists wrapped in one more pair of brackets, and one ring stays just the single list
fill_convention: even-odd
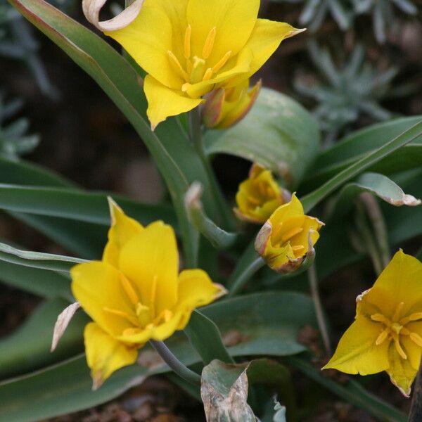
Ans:
[{"label": "large wide-open yellow flower at the top of the photo", "polygon": [[196,108],[208,92],[236,87],[301,31],[257,19],[259,8],[260,0],[145,0],[132,23],[105,32],[148,73],[152,129]]}]

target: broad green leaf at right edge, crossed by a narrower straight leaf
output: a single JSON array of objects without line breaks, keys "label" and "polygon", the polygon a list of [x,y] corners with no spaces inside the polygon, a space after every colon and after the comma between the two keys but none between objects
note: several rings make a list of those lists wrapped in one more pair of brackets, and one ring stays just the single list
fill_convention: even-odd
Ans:
[{"label": "broad green leaf at right edge, crossed by a narrower straight leaf", "polygon": [[[325,181],[360,160],[376,148],[380,148],[387,141],[394,139],[414,124],[420,122],[421,116],[403,117],[353,132],[347,135],[328,150],[321,153],[301,188],[309,191],[323,184]],[[383,158],[380,162],[369,167],[373,172],[392,174],[411,168],[421,167],[422,137],[414,139],[412,143],[400,148],[395,155]]]}]

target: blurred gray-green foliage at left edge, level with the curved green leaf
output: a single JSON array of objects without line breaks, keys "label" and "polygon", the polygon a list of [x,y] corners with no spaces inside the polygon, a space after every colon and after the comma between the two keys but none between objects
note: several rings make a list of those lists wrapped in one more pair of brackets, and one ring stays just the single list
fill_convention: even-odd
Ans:
[{"label": "blurred gray-green foliage at left edge, level with the curved green leaf", "polygon": [[30,153],[37,147],[39,136],[28,135],[30,122],[26,117],[8,122],[22,107],[19,99],[4,101],[0,94],[0,155],[10,160],[16,160],[20,155]]}]

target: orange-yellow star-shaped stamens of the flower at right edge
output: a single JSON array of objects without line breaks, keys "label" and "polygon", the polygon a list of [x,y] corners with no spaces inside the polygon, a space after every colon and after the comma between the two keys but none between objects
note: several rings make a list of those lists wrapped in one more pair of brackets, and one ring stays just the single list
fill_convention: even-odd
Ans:
[{"label": "orange-yellow star-shaped stamens of the flower at right edge", "polygon": [[379,346],[385,341],[390,343],[392,340],[394,341],[395,349],[397,350],[397,353],[400,355],[400,357],[407,359],[407,354],[404,352],[402,344],[400,343],[400,336],[409,335],[409,338],[416,345],[422,347],[422,337],[417,333],[410,331],[406,327],[409,322],[422,319],[422,312],[415,312],[414,314],[400,318],[403,306],[404,302],[400,302],[399,305],[397,305],[391,319],[387,318],[387,316],[384,316],[383,314],[373,314],[371,315],[371,319],[372,321],[380,322],[384,326],[380,335],[378,335],[375,344]]}]

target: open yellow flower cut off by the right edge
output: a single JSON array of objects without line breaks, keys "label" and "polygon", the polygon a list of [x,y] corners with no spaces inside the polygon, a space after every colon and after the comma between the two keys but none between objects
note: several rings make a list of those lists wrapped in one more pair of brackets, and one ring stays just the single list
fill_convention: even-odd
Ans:
[{"label": "open yellow flower cut off by the right edge", "polygon": [[399,250],[373,287],[357,297],[353,324],[323,369],[386,371],[409,396],[422,354],[422,264]]}]

